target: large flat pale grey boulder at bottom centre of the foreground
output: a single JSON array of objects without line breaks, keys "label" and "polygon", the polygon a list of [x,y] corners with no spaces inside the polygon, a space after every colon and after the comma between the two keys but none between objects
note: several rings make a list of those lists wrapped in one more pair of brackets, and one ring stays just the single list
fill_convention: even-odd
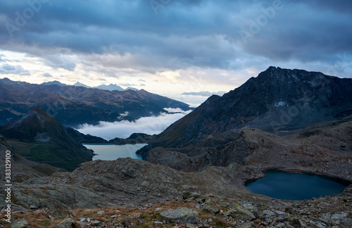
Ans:
[{"label": "large flat pale grey boulder at bottom centre of the foreground", "polygon": [[165,210],[159,215],[160,220],[168,223],[193,223],[197,222],[198,213],[189,208],[177,208],[176,210]]}]

